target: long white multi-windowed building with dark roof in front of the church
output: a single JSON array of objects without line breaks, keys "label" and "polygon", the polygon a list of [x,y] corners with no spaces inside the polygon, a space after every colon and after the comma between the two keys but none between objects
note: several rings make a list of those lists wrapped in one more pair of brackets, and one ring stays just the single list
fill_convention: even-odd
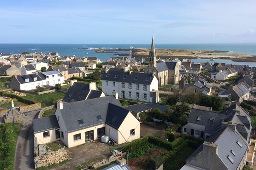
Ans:
[{"label": "long white multi-windowed building with dark roof in front of the church", "polygon": [[119,98],[159,101],[158,80],[154,74],[108,71],[102,74],[102,91],[106,95],[118,92]]}]

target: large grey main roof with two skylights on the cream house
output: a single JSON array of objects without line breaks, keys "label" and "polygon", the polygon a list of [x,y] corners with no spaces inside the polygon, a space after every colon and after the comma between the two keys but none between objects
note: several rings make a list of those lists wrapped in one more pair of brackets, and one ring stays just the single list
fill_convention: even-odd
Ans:
[{"label": "large grey main roof with two skylights on the cream house", "polygon": [[[122,107],[119,100],[114,96],[105,96],[70,103],[64,102],[63,109],[60,111],[67,131],[71,132],[105,123],[109,103]],[[117,113],[118,112],[115,110],[115,114]],[[96,119],[97,115],[101,115],[102,121]],[[78,119],[83,119],[84,125],[79,125]],[[119,119],[117,121],[119,121]]]}]

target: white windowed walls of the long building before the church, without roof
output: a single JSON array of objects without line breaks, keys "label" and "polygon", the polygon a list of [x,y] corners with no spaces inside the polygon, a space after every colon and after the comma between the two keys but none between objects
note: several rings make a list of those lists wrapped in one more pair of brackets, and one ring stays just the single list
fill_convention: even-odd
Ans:
[{"label": "white windowed walls of the long building before the church, without roof", "polygon": [[158,90],[158,80],[155,76],[150,85],[102,80],[102,91],[104,94],[112,95],[113,92],[118,92],[119,98],[151,102],[150,91],[152,90]]}]

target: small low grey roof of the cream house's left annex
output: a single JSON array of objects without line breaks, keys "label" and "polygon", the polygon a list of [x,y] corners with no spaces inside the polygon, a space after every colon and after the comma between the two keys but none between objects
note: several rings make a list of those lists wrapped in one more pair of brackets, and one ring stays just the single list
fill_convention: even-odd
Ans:
[{"label": "small low grey roof of the cream house's left annex", "polygon": [[59,128],[58,120],[55,115],[42,117],[33,120],[34,133],[39,133],[53,128]]}]

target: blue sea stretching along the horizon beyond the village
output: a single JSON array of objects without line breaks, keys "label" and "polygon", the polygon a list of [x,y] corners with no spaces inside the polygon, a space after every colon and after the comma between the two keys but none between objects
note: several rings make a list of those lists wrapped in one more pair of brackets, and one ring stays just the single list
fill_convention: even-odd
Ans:
[{"label": "blue sea stretching along the horizon beyond the village", "polygon": [[[76,57],[95,57],[105,61],[110,57],[117,57],[114,53],[129,53],[129,51],[114,51],[113,53],[96,53],[95,49],[117,48],[150,48],[151,44],[0,44],[0,53],[21,54],[24,51],[58,52],[61,56],[75,55]],[[155,44],[158,49],[185,49],[185,50],[219,50],[228,53],[250,54],[256,56],[256,43],[204,43],[204,44]],[[234,62],[230,59],[192,59],[197,62],[226,62],[227,64],[249,65],[256,67],[256,62]]]}]

